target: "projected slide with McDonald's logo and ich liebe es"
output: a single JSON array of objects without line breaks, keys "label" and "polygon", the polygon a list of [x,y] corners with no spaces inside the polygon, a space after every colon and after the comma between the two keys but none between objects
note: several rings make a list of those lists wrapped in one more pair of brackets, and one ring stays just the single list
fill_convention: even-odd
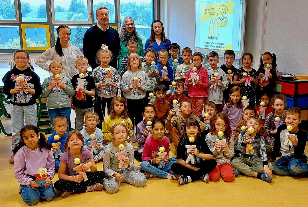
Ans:
[{"label": "projected slide with McDonald's logo and ich liebe es", "polygon": [[242,0],[196,0],[196,48],[241,50]]}]

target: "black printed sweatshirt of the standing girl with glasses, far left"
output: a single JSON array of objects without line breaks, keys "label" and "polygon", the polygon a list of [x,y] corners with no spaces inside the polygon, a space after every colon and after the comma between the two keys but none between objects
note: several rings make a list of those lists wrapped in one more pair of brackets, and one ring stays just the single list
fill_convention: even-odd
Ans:
[{"label": "black printed sweatshirt of the standing girl with glasses, far left", "polygon": [[[11,89],[15,88],[17,85],[18,77],[23,76],[24,80],[27,81],[27,85],[34,89],[35,93],[32,95],[30,93],[26,93],[24,91],[11,94]],[[2,82],[3,93],[10,99],[10,103],[18,106],[30,106],[32,104],[36,104],[36,99],[42,94],[42,85],[40,83],[39,76],[33,72],[30,68],[26,68],[24,70],[19,70],[14,66],[12,70],[7,72],[3,78]]]}]

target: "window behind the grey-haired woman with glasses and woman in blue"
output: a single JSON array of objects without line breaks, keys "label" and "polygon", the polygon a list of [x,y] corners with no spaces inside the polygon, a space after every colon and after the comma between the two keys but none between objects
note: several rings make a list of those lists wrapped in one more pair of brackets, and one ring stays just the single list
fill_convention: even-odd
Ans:
[{"label": "window behind the grey-haired woman with glasses and woman in blue", "polygon": [[140,0],[138,2],[135,0],[120,0],[121,24],[123,24],[125,17],[132,17],[143,45],[151,34],[153,12],[152,0]]}]

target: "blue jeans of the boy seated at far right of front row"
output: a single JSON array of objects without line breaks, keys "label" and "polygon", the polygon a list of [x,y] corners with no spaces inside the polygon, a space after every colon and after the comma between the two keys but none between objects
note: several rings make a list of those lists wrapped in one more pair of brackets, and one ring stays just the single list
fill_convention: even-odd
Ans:
[{"label": "blue jeans of the boy seated at far right of front row", "polygon": [[273,164],[273,172],[285,176],[308,176],[307,156],[296,159],[292,156],[282,156]]}]

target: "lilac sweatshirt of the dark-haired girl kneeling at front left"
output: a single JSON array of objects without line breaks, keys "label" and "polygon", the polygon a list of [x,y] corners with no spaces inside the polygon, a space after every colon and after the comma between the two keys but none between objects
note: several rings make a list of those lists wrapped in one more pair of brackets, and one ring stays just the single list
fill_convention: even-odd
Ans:
[{"label": "lilac sweatshirt of the dark-haired girl kneeling at front left", "polygon": [[[41,150],[43,152],[41,152]],[[30,150],[23,146],[15,154],[14,175],[17,182],[23,186],[30,186],[33,181],[28,175],[34,176],[40,167],[47,169],[48,175],[52,179],[55,176],[55,159],[52,150],[45,148]]]}]

